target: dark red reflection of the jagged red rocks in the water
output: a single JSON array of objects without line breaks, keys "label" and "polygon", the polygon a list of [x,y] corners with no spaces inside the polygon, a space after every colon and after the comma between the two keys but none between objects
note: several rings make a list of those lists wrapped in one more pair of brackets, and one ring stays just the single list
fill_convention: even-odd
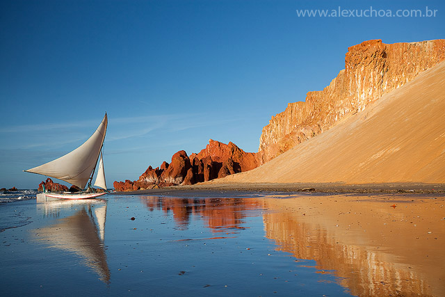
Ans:
[{"label": "dark red reflection of the jagged red rocks in the water", "polygon": [[227,232],[227,229],[237,229],[245,211],[254,209],[256,202],[248,198],[165,198],[147,196],[141,198],[148,209],[162,209],[165,213],[172,212],[176,223],[188,225],[191,216],[202,217],[207,227],[213,232]]}]

